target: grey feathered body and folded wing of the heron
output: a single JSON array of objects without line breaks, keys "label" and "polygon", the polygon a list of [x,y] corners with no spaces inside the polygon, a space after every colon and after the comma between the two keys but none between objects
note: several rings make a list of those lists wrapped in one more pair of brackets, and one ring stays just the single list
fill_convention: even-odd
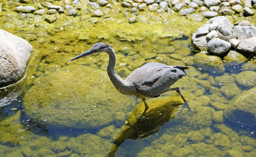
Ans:
[{"label": "grey feathered body and folded wing of the heron", "polygon": [[[184,66],[180,67],[184,68]],[[162,94],[170,85],[186,75],[185,71],[179,68],[151,62],[132,72],[126,78],[126,81],[132,82],[142,95],[154,97]]]}]

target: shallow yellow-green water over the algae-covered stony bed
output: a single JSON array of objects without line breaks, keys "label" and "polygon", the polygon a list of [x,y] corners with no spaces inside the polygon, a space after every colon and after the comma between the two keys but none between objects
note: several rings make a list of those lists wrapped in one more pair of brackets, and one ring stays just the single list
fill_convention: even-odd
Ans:
[{"label": "shallow yellow-green water over the algae-covered stony bed", "polygon": [[[243,71],[255,72],[255,59],[221,60],[206,68],[195,62],[190,41],[207,19],[199,23],[176,14],[147,14],[135,24],[122,14],[96,24],[83,16],[61,16],[55,24],[39,20],[41,27],[26,19],[1,21],[2,29],[25,38],[35,51],[24,80],[0,89],[2,100],[14,98],[0,107],[0,156],[106,156],[115,151],[116,156],[255,156],[255,127],[234,124],[223,111],[234,96],[255,88],[235,79]],[[253,24],[254,17],[250,20]],[[111,84],[107,54],[68,62],[98,41],[115,49],[115,69],[122,78],[152,61],[188,66],[187,76],[173,87],[182,89],[193,114],[184,109],[178,115],[182,99],[169,92],[148,98],[150,109],[140,117],[141,100],[118,93]]]}]

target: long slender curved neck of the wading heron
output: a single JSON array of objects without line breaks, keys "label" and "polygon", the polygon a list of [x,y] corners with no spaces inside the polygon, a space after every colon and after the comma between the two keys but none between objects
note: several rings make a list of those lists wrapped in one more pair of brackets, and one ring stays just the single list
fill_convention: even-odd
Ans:
[{"label": "long slender curved neck of the wading heron", "polygon": [[113,48],[109,48],[108,51],[106,51],[106,53],[109,54],[109,65],[107,68],[109,78],[115,86],[115,88],[118,89],[118,91],[120,92],[120,88],[124,87],[125,84],[124,80],[115,72],[115,51]]}]

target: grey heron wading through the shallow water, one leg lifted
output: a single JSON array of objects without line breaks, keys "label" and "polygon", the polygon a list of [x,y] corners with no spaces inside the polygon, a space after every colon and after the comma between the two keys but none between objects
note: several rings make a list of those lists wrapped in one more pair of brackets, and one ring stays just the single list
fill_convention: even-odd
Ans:
[{"label": "grey heron wading through the shallow water, one leg lifted", "polygon": [[188,67],[179,65],[169,66],[162,63],[151,62],[136,69],[129,76],[127,76],[125,80],[123,80],[115,72],[116,57],[114,49],[111,45],[104,42],[95,43],[90,50],[78,55],[70,61],[99,52],[106,52],[109,54],[109,65],[107,71],[115,88],[122,94],[134,95],[138,98],[142,98],[145,105],[142,115],[144,115],[148,109],[146,97],[158,97],[161,94],[169,91],[177,91],[184,100],[185,103],[182,109],[180,109],[180,112],[184,108],[188,108],[188,110],[192,112],[188,106],[187,100],[184,98],[182,93],[180,93],[179,87],[170,88],[170,86],[173,85],[179,78],[187,75],[185,70],[188,69]]}]

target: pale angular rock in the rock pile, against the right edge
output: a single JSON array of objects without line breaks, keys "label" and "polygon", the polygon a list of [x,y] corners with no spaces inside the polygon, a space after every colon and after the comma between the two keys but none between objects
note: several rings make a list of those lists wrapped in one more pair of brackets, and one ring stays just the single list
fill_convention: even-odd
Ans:
[{"label": "pale angular rock in the rock pile, against the right edge", "polygon": [[235,26],[233,30],[237,34],[238,39],[240,40],[256,36],[255,26]]}]

